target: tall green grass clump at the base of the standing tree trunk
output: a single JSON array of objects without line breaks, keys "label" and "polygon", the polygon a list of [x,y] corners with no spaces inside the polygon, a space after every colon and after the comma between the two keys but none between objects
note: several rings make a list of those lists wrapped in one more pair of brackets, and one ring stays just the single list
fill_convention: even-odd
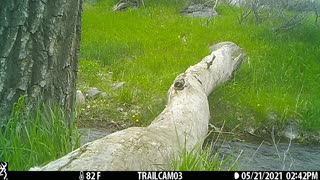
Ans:
[{"label": "tall green grass clump at the base of the standing tree trunk", "polygon": [[0,160],[9,163],[10,171],[41,166],[79,146],[79,135],[74,126],[67,127],[61,110],[38,105],[33,114],[26,115],[25,108],[22,97],[0,128]]}]

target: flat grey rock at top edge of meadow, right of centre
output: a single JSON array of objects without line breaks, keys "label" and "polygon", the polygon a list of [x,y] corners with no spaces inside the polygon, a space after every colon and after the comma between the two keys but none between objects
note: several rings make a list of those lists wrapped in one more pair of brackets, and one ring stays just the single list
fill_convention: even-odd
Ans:
[{"label": "flat grey rock at top edge of meadow, right of centre", "polygon": [[189,17],[213,17],[218,13],[212,7],[204,4],[194,4],[180,11],[181,14]]}]

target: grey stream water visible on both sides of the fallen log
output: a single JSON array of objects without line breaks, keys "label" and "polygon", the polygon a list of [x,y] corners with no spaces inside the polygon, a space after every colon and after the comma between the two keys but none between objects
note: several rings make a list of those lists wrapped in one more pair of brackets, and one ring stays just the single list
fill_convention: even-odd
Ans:
[{"label": "grey stream water visible on both sides of the fallen log", "polygon": [[[111,134],[110,129],[80,129],[81,145]],[[237,160],[239,170],[279,171],[279,170],[320,170],[320,147],[291,143],[272,144],[248,142],[218,142],[213,148],[220,155]]]}]

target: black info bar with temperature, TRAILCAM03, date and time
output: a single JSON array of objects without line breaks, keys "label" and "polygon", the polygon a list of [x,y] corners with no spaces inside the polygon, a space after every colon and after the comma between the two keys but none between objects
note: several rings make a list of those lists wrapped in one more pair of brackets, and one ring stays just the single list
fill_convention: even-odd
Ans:
[{"label": "black info bar with temperature, TRAILCAM03, date and time", "polygon": [[319,171],[8,171],[0,180],[319,180]]}]

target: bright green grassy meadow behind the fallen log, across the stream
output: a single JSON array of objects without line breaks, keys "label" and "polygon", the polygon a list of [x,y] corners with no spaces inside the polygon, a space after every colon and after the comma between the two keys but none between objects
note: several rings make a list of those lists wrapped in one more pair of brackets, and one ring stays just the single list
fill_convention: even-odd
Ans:
[{"label": "bright green grassy meadow behind the fallen log, across the stream", "polygon": [[[281,129],[295,119],[304,131],[320,130],[320,28],[313,19],[275,34],[270,24],[240,25],[224,6],[217,8],[221,16],[208,20],[180,16],[185,5],[180,0],[145,1],[145,7],[125,12],[112,12],[114,3],[85,3],[79,83],[82,89],[94,86],[114,95],[106,106],[139,106],[136,125],[148,125],[161,112],[174,78],[208,55],[209,45],[232,41],[248,59],[209,97],[212,122],[225,121],[226,129],[239,124],[238,129]],[[94,66],[87,68],[90,63]],[[101,71],[112,72],[109,82],[101,81]],[[110,82],[120,81],[127,82],[121,91],[110,90]],[[117,119],[115,109],[99,114],[113,113]],[[270,120],[270,114],[276,118]]]}]

